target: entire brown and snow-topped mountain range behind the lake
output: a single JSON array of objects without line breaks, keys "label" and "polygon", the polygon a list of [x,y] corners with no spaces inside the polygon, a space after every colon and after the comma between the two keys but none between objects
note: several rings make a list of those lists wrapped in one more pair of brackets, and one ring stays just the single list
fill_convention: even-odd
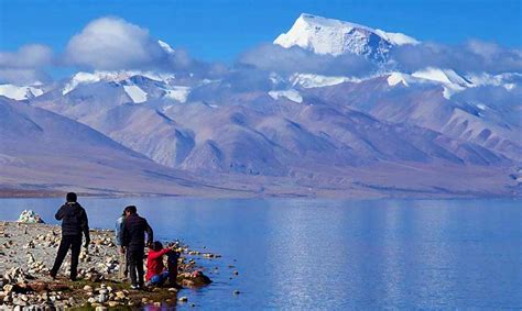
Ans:
[{"label": "entire brown and snow-topped mountain range behind the lake", "polygon": [[221,77],[94,70],[51,84],[2,85],[0,188],[520,196],[520,97],[485,102],[470,95],[492,89],[516,98],[522,74],[391,64],[395,48],[418,44],[401,33],[302,14],[274,47],[308,57],[360,57],[377,70],[356,77],[297,68],[261,78],[248,66]]}]

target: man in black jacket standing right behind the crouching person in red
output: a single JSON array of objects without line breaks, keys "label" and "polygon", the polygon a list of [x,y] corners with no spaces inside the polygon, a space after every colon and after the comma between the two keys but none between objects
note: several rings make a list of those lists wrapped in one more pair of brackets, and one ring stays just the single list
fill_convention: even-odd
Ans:
[{"label": "man in black jacket standing right behind the crouching person in red", "polygon": [[143,287],[143,257],[145,255],[145,233],[148,245],[152,245],[152,229],[144,218],[137,213],[134,206],[126,208],[126,221],[122,232],[122,245],[127,251],[127,264],[132,289]]}]

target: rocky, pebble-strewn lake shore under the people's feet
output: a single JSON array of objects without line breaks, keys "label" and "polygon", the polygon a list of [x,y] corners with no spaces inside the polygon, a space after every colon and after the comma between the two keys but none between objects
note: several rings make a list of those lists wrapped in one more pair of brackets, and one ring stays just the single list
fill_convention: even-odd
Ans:
[{"label": "rocky, pebble-strewn lake shore under the people's feet", "polygon": [[178,262],[180,287],[130,290],[129,282],[118,279],[118,254],[113,231],[91,230],[89,248],[83,248],[78,280],[68,280],[68,258],[53,280],[48,269],[61,241],[61,229],[40,223],[0,222],[0,308],[14,310],[52,310],[64,308],[140,308],[192,304],[181,295],[183,288],[211,282],[202,273],[198,259],[218,258],[217,254],[189,249],[172,242],[182,254]]}]

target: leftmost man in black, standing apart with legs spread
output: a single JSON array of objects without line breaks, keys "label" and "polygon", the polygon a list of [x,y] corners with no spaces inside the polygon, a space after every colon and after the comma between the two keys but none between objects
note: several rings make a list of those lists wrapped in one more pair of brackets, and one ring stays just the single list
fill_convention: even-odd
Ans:
[{"label": "leftmost man in black, standing apart with legs spread", "polygon": [[70,280],[76,280],[81,233],[85,235],[85,248],[90,243],[87,213],[76,200],[76,193],[67,193],[67,202],[59,208],[55,215],[56,220],[62,221],[62,242],[59,242],[58,254],[50,273],[52,278],[56,278],[56,274],[70,248]]}]

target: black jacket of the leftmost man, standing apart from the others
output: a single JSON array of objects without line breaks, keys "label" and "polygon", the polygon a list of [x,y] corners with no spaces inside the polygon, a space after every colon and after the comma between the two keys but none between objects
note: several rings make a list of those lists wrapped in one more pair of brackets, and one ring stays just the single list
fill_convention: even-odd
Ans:
[{"label": "black jacket of the leftmost man, standing apart from the others", "polygon": [[67,202],[63,204],[54,215],[56,220],[62,221],[62,235],[81,235],[90,241],[89,221],[84,208],[76,202]]}]

